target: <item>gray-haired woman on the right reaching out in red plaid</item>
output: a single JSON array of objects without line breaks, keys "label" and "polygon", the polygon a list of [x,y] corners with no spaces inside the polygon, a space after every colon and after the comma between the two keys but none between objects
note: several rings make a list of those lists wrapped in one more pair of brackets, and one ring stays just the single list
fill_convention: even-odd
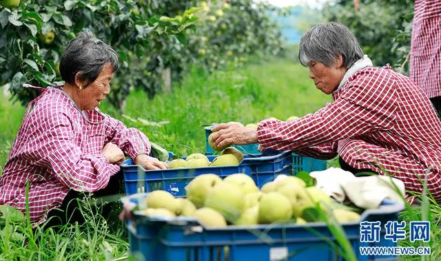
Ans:
[{"label": "gray-haired woman on the right reaching out in red plaid", "polygon": [[441,122],[421,88],[389,65],[372,67],[341,23],[306,32],[299,58],[316,88],[334,101],[296,121],[262,121],[257,131],[220,124],[214,145],[260,143],[322,159],[338,154],[342,169],[394,176],[407,191],[421,193],[427,179],[441,202]]}]

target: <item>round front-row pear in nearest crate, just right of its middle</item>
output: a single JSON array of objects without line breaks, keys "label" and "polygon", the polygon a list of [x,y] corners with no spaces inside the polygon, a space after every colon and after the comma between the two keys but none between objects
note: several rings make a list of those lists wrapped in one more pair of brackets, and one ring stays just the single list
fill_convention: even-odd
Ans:
[{"label": "round front-row pear in nearest crate, just right of its middle", "polygon": [[291,203],[280,192],[263,194],[259,202],[259,223],[286,223],[291,220]]}]

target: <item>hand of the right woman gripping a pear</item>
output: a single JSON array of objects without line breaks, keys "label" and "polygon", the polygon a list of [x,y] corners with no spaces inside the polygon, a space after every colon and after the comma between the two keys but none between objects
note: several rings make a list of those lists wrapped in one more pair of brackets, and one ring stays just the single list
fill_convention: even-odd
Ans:
[{"label": "hand of the right woman gripping a pear", "polygon": [[243,127],[238,123],[220,123],[213,127],[212,143],[216,147],[229,145],[247,145],[257,143],[256,129]]}]

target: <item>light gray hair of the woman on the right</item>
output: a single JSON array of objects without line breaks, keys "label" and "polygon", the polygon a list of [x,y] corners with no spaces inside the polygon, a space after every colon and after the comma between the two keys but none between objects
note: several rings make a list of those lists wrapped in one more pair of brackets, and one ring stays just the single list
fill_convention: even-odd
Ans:
[{"label": "light gray hair of the woman on the right", "polygon": [[316,25],[305,32],[300,40],[298,59],[303,66],[308,66],[310,61],[331,66],[339,54],[347,68],[365,54],[356,36],[342,23]]}]

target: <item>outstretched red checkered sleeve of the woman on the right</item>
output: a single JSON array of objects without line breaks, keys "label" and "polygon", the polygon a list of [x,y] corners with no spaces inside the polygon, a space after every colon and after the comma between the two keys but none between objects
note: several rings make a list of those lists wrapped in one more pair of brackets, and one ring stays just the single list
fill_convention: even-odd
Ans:
[{"label": "outstretched red checkered sleeve of the woman on the right", "polygon": [[390,74],[359,76],[340,98],[314,114],[291,122],[260,122],[258,142],[267,148],[294,150],[390,129],[397,107],[392,85]]}]

